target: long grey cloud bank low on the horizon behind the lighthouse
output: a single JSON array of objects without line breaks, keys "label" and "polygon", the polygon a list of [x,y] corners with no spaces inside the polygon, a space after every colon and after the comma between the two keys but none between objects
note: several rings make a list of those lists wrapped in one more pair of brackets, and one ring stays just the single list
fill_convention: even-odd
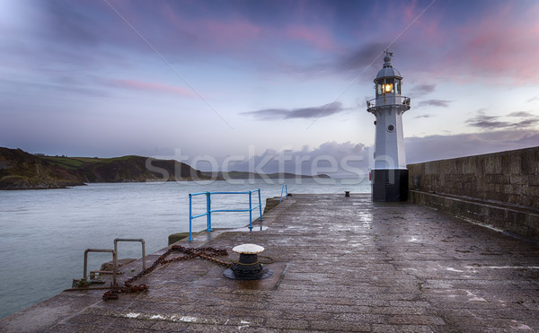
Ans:
[{"label": "long grey cloud bank low on the horizon behind the lighthouse", "polygon": [[[508,129],[473,134],[407,137],[404,139],[409,164],[455,157],[495,153],[533,147],[539,142],[539,130]],[[250,171],[252,166],[261,171],[292,172],[312,175],[327,173],[330,176],[354,177],[367,174],[374,165],[374,148],[350,142],[326,142],[314,149],[280,151],[268,149],[252,156],[249,161],[231,163],[229,171]]]}]

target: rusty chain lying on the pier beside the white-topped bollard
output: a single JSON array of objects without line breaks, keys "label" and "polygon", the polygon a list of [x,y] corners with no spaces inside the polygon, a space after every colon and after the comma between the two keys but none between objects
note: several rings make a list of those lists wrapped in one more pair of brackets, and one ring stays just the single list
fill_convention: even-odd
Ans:
[{"label": "rusty chain lying on the pier beside the white-topped bollard", "polygon": [[[166,259],[172,252],[181,252],[185,253],[182,257],[176,257],[172,259]],[[147,267],[145,270],[138,273],[136,276],[130,277],[127,281],[124,282],[125,287],[120,286],[114,286],[112,287],[108,292],[103,294],[102,299],[107,300],[117,300],[119,293],[140,293],[148,289],[147,285],[132,285],[134,281],[137,279],[146,276],[147,274],[153,272],[155,268],[157,268],[160,265],[165,265],[171,262],[175,261],[181,261],[181,260],[187,260],[187,259],[193,259],[193,258],[201,258],[206,259],[208,261],[213,261],[218,265],[225,266],[225,267],[231,267],[232,263],[225,262],[223,260],[216,259],[217,256],[227,256],[228,251],[225,249],[215,249],[215,248],[186,248],[181,245],[172,245],[172,247],[164,252],[158,259],[155,260],[155,262],[152,264],[152,266]]]}]

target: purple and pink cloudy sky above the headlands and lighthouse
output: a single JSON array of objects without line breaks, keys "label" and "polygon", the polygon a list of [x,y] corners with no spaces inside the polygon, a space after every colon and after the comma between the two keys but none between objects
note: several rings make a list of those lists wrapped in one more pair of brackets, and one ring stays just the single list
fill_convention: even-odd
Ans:
[{"label": "purple and pink cloudy sky above the headlands and lighthouse", "polygon": [[536,146],[537,17],[535,0],[2,0],[0,146],[360,173],[385,49],[409,163]]}]

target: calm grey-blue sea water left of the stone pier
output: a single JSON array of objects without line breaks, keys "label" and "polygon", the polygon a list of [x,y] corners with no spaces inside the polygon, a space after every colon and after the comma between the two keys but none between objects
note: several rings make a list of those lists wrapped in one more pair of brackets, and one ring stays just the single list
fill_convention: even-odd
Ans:
[{"label": "calm grey-blue sea water left of the stone pier", "polygon": [[[299,180],[298,180],[299,181]],[[370,192],[368,181],[287,180],[289,193]],[[113,249],[115,238],[142,238],[146,253],[163,249],[168,235],[189,231],[189,193],[261,188],[278,197],[281,185],[262,180],[90,184],[48,190],[0,191],[0,318],[71,287],[83,276],[84,250]],[[352,184],[350,184],[352,183]],[[253,195],[253,202],[258,197]],[[193,214],[204,213],[206,198],[194,197]],[[212,209],[245,209],[248,195],[212,196]],[[253,219],[257,218],[253,211]],[[212,226],[242,227],[248,213],[212,215]],[[194,220],[193,232],[206,227]],[[120,242],[119,259],[140,258],[139,242]],[[90,253],[89,270],[99,269],[110,253]]]}]

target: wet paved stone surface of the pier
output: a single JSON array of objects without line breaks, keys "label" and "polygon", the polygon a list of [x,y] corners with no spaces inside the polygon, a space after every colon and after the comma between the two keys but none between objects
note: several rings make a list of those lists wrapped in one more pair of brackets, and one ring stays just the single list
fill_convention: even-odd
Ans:
[{"label": "wet paved stone surface of the pier", "polygon": [[[200,232],[181,245],[226,249],[219,259],[235,260],[234,246],[259,244],[275,260],[269,278],[237,281],[208,260],[172,262],[137,281],[149,285],[144,293],[102,301],[103,290],[63,292],[0,320],[0,331],[539,331],[535,244],[357,194],[294,195],[258,230]],[[122,267],[120,284],[141,266]]]}]

